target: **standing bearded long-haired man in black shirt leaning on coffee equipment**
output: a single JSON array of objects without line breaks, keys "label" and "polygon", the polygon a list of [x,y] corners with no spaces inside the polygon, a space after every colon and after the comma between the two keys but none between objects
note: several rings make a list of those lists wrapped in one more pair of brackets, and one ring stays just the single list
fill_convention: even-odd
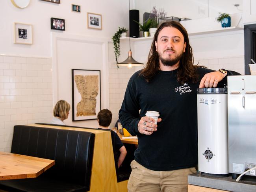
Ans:
[{"label": "standing bearded long-haired man in black shirt leaning on coffee equipment", "polygon": [[[238,73],[193,64],[186,29],[163,22],[145,68],[128,82],[119,111],[121,124],[139,140],[129,192],[186,192],[187,175],[197,172],[197,88],[223,87],[227,75]],[[147,111],[160,113],[157,125]]]}]

